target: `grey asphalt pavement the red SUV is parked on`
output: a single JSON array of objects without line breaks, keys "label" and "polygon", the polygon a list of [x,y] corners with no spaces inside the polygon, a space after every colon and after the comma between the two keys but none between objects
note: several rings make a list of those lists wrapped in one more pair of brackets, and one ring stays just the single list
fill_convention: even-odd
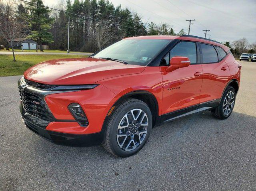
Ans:
[{"label": "grey asphalt pavement the red SUV is parked on", "polygon": [[230,118],[206,111],[174,120],[125,159],[35,136],[20,120],[19,77],[0,77],[0,190],[256,190],[256,63],[241,63]]}]

